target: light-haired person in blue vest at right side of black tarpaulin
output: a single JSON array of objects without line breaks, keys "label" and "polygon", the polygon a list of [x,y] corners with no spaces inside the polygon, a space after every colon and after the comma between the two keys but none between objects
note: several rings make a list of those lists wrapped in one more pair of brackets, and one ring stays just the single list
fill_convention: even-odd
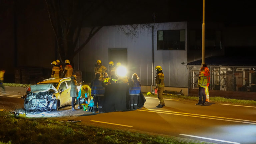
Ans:
[{"label": "light-haired person in blue vest at right side of black tarpaulin", "polygon": [[138,108],[140,90],[141,85],[138,80],[138,75],[134,73],[132,79],[129,80],[130,110],[136,110]]}]

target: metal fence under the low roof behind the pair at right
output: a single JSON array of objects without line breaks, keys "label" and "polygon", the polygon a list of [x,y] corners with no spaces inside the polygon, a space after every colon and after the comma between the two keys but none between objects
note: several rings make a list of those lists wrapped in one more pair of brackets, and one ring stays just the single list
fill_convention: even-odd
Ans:
[{"label": "metal fence under the low roof behind the pair at right", "polygon": [[[197,87],[200,65],[187,66],[189,71],[189,88]],[[223,91],[256,92],[255,67],[208,66],[211,82],[209,89]]]}]

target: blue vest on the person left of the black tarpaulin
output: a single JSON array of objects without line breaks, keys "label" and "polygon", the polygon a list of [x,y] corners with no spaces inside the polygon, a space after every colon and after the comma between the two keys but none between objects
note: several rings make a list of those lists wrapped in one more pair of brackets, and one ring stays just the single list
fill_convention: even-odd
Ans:
[{"label": "blue vest on the person left of the black tarpaulin", "polygon": [[102,80],[94,79],[91,83],[92,95],[96,96],[104,96],[104,83]]}]

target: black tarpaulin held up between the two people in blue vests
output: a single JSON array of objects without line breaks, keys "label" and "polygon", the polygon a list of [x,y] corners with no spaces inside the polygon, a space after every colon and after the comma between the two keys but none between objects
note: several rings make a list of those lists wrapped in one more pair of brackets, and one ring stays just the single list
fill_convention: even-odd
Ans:
[{"label": "black tarpaulin held up between the two people in blue vests", "polygon": [[[105,88],[103,112],[127,111],[130,110],[129,88],[127,84],[110,84]],[[138,99],[138,108],[142,108],[146,99],[142,92]]]}]

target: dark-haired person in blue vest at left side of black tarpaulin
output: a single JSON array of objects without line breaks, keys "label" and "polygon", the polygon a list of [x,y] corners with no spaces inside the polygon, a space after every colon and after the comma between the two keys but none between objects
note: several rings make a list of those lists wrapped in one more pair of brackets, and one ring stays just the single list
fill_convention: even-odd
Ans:
[{"label": "dark-haired person in blue vest at left side of black tarpaulin", "polygon": [[92,113],[96,113],[97,104],[99,112],[102,112],[102,105],[104,102],[104,93],[106,85],[100,79],[100,73],[96,72],[95,79],[91,82],[92,96],[93,96],[93,110]]}]

